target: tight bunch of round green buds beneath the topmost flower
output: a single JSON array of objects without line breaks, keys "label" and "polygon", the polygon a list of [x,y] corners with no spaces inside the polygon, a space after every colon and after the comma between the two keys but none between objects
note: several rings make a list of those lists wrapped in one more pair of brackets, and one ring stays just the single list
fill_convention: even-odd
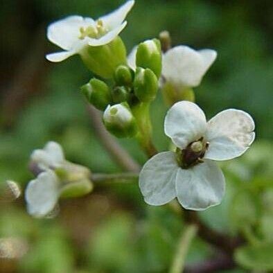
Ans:
[{"label": "tight bunch of round green buds beneath the topmost flower", "polygon": [[103,122],[109,132],[117,137],[133,137],[138,125],[132,108],[155,100],[160,75],[160,42],[152,39],[137,47],[134,67],[127,62],[116,67],[112,85],[92,78],[81,90],[91,105],[104,112]]}]

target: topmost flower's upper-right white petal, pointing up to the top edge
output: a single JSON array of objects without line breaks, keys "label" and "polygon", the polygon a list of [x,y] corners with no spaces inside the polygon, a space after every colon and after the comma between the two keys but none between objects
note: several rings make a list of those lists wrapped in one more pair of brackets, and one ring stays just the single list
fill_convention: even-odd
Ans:
[{"label": "topmost flower's upper-right white petal, pointing up to the top edge", "polygon": [[132,6],[134,6],[134,1],[127,1],[123,6],[109,13],[109,15],[100,17],[100,19],[103,21],[103,26],[106,26],[106,28],[112,30],[121,25],[127,16],[127,13],[130,12]]}]

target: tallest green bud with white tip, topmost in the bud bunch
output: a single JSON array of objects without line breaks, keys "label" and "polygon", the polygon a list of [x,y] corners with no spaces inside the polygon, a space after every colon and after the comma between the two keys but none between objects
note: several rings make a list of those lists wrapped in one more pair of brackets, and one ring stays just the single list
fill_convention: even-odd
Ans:
[{"label": "tallest green bud with white tip, topmost in the bud bunch", "polygon": [[151,69],[157,78],[161,75],[161,45],[158,39],[148,39],[136,51],[136,67]]}]

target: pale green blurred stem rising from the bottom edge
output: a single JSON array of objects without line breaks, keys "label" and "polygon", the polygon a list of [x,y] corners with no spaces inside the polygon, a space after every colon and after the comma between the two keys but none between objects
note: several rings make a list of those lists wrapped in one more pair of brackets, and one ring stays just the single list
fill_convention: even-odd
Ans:
[{"label": "pale green blurred stem rising from the bottom edge", "polygon": [[177,252],[173,258],[173,263],[170,267],[169,273],[183,272],[188,249],[191,246],[191,242],[196,234],[197,226],[195,224],[189,224],[184,232],[182,232],[182,236],[177,245]]}]

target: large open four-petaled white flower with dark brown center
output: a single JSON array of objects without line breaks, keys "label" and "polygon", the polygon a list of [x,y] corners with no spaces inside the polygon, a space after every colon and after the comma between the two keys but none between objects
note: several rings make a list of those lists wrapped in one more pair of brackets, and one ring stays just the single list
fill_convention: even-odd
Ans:
[{"label": "large open four-petaled white flower with dark brown center", "polygon": [[145,201],[158,206],[177,197],[196,211],[220,204],[225,182],[214,161],[239,157],[249,148],[255,138],[252,117],[227,109],[206,122],[200,107],[180,101],[169,109],[164,130],[177,152],[161,152],[143,166],[139,186]]}]

